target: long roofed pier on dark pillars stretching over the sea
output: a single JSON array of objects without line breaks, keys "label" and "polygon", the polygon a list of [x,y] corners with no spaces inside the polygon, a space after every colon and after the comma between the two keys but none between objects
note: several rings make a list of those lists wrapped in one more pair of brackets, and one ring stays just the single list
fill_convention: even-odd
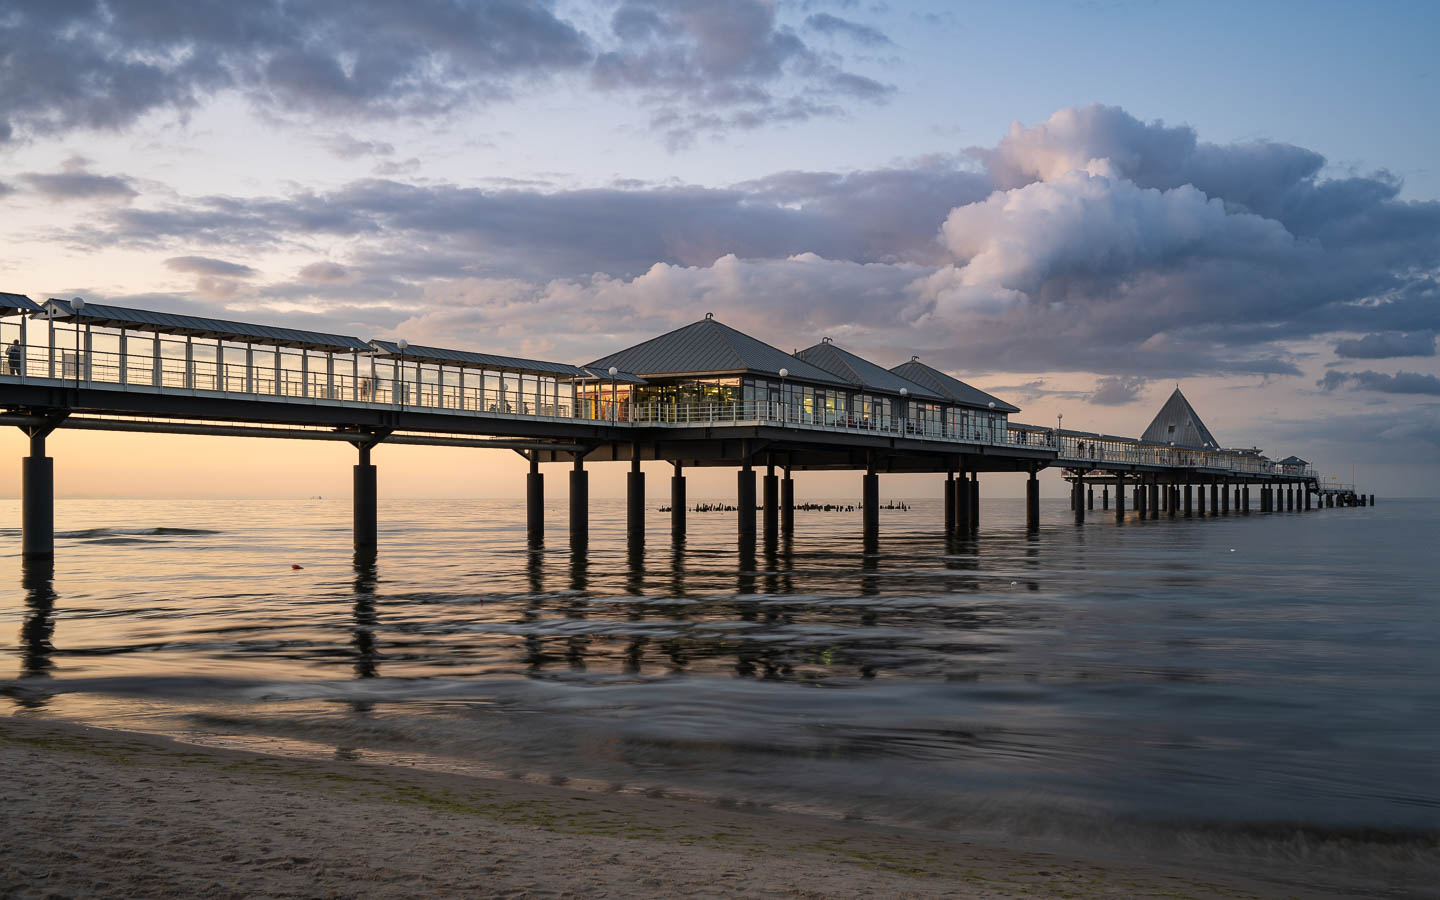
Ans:
[{"label": "long roofed pier on dark pillars stretching over the sea", "polygon": [[[22,552],[55,553],[55,429],[341,441],[356,448],[354,547],[379,547],[374,451],[507,449],[528,461],[526,534],[544,541],[544,469],[569,468],[569,541],[589,539],[588,465],[628,467],[626,539],[645,544],[642,461],[672,465],[671,540],[685,537],[685,468],[736,469],[736,533],[793,530],[796,471],[860,474],[867,537],[880,478],[943,475],[946,534],[981,527],[981,475],[1060,468],[1077,523],[1368,505],[1297,456],[1221,448],[1175,389],[1139,438],[1011,420],[1020,408],[912,357],[891,369],[829,338],[785,353],[711,315],[575,366],[274,325],[0,294],[0,425],[29,436]],[[760,490],[756,491],[757,469]],[[1256,504],[1251,504],[1251,494]],[[759,517],[756,513],[759,511]],[[757,523],[759,520],[759,523]],[[757,524],[760,526],[757,528]],[[752,543],[753,546],[753,543]]]}]

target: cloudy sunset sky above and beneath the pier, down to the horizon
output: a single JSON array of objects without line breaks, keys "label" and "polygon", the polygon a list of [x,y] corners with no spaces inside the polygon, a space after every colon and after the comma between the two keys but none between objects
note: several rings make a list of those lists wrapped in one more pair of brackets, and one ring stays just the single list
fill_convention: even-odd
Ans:
[{"label": "cloudy sunset sky above and beneath the pier, down to the horizon", "polygon": [[[1225,445],[1433,497],[1437,37],[1434,3],[12,0],[0,289],[572,363],[713,312],[1034,423],[1138,435],[1179,384]],[[353,462],[50,448],[62,497],[343,494]],[[390,497],[523,465],[376,462]]]}]

